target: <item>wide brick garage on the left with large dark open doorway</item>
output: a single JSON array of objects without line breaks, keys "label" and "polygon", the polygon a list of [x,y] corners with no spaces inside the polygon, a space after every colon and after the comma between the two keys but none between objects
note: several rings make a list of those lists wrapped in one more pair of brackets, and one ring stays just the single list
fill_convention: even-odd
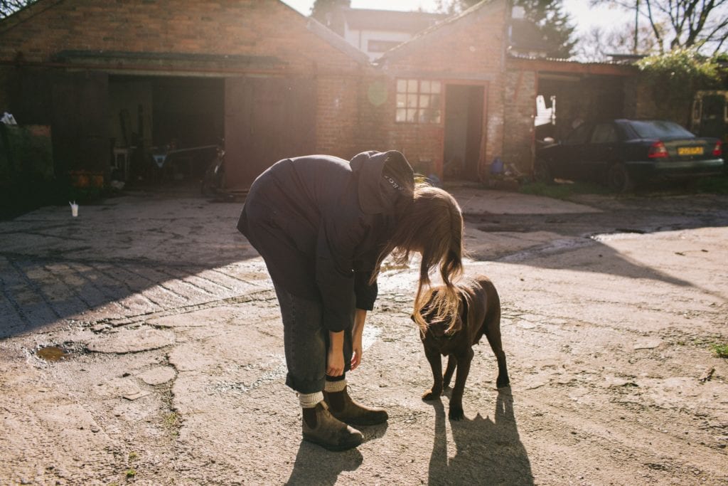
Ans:
[{"label": "wide brick garage on the left with large dark open doorway", "polygon": [[39,0],[0,21],[0,105],[51,125],[58,176],[108,180],[120,160],[124,179],[194,179],[221,139],[231,187],[293,154],[347,157],[372,142],[352,136],[368,69],[278,0]]}]

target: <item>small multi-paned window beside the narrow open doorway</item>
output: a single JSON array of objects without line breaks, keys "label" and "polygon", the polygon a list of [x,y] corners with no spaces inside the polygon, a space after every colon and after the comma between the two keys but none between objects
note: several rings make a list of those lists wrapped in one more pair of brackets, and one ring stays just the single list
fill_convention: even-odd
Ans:
[{"label": "small multi-paned window beside the narrow open doorway", "polygon": [[431,79],[397,79],[397,122],[440,123],[442,83]]}]

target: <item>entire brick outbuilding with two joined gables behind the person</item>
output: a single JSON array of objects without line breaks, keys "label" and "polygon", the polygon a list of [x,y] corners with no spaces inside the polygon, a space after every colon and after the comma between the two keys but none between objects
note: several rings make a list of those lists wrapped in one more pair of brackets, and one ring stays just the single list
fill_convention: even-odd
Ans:
[{"label": "entire brick outbuilding with two joined gables behind the person", "polygon": [[537,94],[606,90],[617,113],[629,73],[513,58],[510,11],[484,0],[373,64],[277,0],[39,0],[0,21],[0,111],[52,127],[58,176],[108,180],[116,155],[144,176],[172,149],[194,179],[207,152],[183,149],[221,138],[236,188],[282,157],[367,149],[446,179],[482,179],[495,157],[529,171]]}]

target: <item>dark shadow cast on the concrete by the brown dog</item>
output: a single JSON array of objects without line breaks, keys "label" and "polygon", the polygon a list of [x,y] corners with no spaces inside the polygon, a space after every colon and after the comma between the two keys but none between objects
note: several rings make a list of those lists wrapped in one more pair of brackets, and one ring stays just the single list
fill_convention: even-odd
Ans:
[{"label": "dark shadow cast on the concrete by the brown dog", "polygon": [[494,420],[451,420],[455,455],[448,460],[447,412],[443,402],[430,402],[435,409],[435,439],[430,456],[429,484],[533,485],[531,463],[518,436],[510,387],[496,399]]}]

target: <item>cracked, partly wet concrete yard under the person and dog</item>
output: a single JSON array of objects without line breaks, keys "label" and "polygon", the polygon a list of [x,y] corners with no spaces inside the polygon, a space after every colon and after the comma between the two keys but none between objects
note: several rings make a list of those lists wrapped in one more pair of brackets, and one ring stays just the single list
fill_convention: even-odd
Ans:
[{"label": "cracked, partly wet concrete yard under the person and dog", "polygon": [[476,347],[466,420],[382,275],[352,395],[365,444],[300,440],[277,301],[240,203],[127,192],[0,222],[0,484],[725,484],[728,197],[453,189],[502,297],[512,387]]}]

